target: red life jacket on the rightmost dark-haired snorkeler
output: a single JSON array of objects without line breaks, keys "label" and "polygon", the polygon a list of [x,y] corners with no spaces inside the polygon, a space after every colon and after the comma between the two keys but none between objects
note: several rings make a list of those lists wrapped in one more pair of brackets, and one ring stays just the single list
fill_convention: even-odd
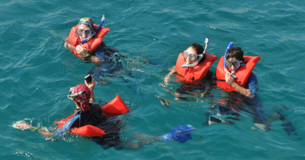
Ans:
[{"label": "red life jacket on the rightmost dark-haired snorkeler", "polygon": [[[237,78],[235,78],[235,83],[237,83],[240,86],[244,86],[248,82],[248,77],[250,76],[255,64],[261,59],[259,56],[243,56],[244,62],[246,65],[241,65],[237,71],[235,72],[235,75]],[[229,71],[229,69],[226,67]],[[224,56],[222,56],[219,59],[219,62],[216,67],[216,78],[217,78],[217,87],[220,87],[225,92],[231,92],[236,90],[226,83],[225,78],[226,71],[224,70]]]}]

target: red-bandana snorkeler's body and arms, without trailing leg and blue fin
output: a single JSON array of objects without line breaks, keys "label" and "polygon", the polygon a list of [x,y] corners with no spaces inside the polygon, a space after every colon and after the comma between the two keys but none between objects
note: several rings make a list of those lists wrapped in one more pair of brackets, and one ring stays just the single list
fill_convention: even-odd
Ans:
[{"label": "red-bandana snorkeler's body and arms, without trailing leg and blue fin", "polygon": [[15,127],[33,129],[33,131],[38,131],[42,135],[59,138],[63,137],[66,133],[78,134],[93,137],[94,141],[101,141],[103,139],[103,144],[108,147],[119,146],[122,143],[119,138],[121,127],[116,121],[107,122],[106,115],[120,115],[130,112],[130,110],[119,97],[107,103],[103,108],[99,107],[94,99],[94,88],[94,78],[92,78],[89,84],[85,81],[85,85],[79,84],[70,88],[68,98],[73,100],[76,110],[68,118],[55,122],[54,124],[58,124],[59,127],[53,132],[37,129],[24,123],[16,124]]}]

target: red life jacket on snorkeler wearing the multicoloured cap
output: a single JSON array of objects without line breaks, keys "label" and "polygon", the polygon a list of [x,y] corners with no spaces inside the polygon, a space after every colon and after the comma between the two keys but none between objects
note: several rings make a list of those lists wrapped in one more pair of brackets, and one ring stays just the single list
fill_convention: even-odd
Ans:
[{"label": "red life jacket on snorkeler wearing the multicoloured cap", "polygon": [[[68,42],[71,46],[76,47],[77,45],[81,44],[81,41],[79,39],[79,35],[76,33],[76,30],[78,28],[78,25],[72,27],[69,37],[68,37]],[[99,28],[98,25],[94,24],[94,29],[97,30]],[[93,36],[92,38],[89,39],[86,43],[84,43],[82,46],[90,53],[94,52],[102,43],[103,43],[103,38],[104,36],[109,32],[109,28],[106,27],[101,27],[99,32]],[[73,55],[77,56],[81,59],[84,59],[82,55],[78,54],[75,49],[73,49]]]}]

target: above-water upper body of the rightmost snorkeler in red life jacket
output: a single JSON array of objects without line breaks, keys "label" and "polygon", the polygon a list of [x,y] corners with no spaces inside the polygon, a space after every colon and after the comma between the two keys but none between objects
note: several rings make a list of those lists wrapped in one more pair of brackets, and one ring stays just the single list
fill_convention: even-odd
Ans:
[{"label": "above-water upper body of the rightmost snorkeler in red life jacket", "polygon": [[258,86],[252,70],[261,57],[243,56],[241,48],[232,46],[233,43],[230,43],[225,57],[221,57],[217,65],[217,86],[225,92],[236,91],[253,98],[257,94]]}]

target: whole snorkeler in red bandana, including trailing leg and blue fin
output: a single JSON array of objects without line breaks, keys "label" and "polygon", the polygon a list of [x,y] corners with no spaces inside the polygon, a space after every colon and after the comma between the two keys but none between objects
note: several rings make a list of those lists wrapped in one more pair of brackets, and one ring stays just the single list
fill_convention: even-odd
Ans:
[{"label": "whole snorkeler in red bandana, including trailing leg and blue fin", "polygon": [[[18,129],[32,129],[44,136],[46,139],[54,140],[49,137],[63,137],[66,133],[78,134],[87,137],[92,137],[93,141],[100,144],[103,148],[114,147],[117,150],[126,149],[138,149],[143,144],[149,144],[154,141],[167,141],[175,140],[180,143],[184,143],[191,139],[191,131],[194,130],[191,125],[178,126],[174,128],[171,133],[164,134],[159,137],[149,136],[145,134],[137,134],[137,137],[127,141],[120,139],[121,126],[119,120],[111,119],[107,121],[108,117],[124,114],[130,112],[128,107],[123,101],[113,99],[103,107],[99,107],[94,99],[95,81],[92,78],[92,82],[86,85],[79,84],[70,88],[70,94],[68,98],[72,99],[76,105],[76,111],[68,118],[64,118],[61,121],[55,122],[60,127],[53,131],[48,132],[43,129],[37,129],[34,126],[24,123],[17,123],[14,125]],[[64,124],[63,124],[64,123]]]}]

